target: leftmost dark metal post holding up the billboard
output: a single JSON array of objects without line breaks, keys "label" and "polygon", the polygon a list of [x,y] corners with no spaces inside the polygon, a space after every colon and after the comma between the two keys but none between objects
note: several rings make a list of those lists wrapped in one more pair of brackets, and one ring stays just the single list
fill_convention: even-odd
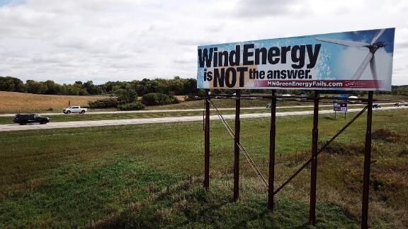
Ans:
[{"label": "leftmost dark metal post holding up the billboard", "polygon": [[205,89],[204,187],[210,187],[210,90]]}]

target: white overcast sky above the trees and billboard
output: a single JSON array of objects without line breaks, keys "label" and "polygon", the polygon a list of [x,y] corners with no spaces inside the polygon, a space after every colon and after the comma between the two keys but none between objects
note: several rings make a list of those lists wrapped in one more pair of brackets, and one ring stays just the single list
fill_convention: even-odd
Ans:
[{"label": "white overcast sky above the trees and billboard", "polygon": [[402,85],[407,12],[407,0],[0,0],[0,76],[196,78],[198,45],[395,27],[392,84]]}]

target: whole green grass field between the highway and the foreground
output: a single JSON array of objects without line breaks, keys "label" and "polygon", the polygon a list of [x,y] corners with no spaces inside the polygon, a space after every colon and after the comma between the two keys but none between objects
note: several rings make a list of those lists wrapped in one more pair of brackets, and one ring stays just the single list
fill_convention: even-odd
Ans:
[{"label": "whole green grass field between the highway and the foreground", "polygon": [[[374,115],[373,228],[408,226],[406,117],[406,110]],[[319,140],[346,122],[322,115]],[[278,184],[310,155],[311,127],[310,116],[277,119]],[[358,228],[364,130],[363,117],[319,155],[317,228]],[[263,175],[268,133],[269,119],[242,119],[242,143]],[[200,184],[201,122],[16,131],[0,133],[0,144],[0,228],[307,226],[310,170],[276,196],[271,214],[266,189],[242,157],[241,197],[232,202],[233,141],[218,121],[211,126],[208,192]]]}]

